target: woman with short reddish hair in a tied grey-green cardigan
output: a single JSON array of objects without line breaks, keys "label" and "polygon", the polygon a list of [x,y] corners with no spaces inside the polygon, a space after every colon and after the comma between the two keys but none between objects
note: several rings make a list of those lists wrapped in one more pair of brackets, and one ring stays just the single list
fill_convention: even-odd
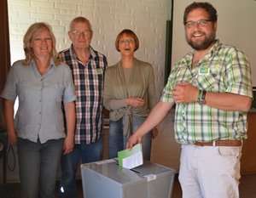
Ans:
[{"label": "woman with short reddish hair in a tied grey-green cardigan", "polygon": [[[127,139],[156,104],[152,65],[134,57],[139,48],[136,34],[127,29],[121,31],[115,48],[120,52],[121,60],[106,71],[103,98],[104,106],[110,110],[109,158],[125,149]],[[147,160],[150,160],[151,139],[157,135],[156,129],[153,132],[143,138],[143,156]]]}]

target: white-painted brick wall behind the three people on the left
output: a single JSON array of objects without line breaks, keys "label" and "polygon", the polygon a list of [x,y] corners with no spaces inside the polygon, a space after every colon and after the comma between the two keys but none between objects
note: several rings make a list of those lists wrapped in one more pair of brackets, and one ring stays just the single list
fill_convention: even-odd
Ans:
[{"label": "white-painted brick wall behind the three people on the left", "polygon": [[34,22],[52,25],[58,50],[68,48],[68,25],[83,15],[92,24],[92,47],[105,54],[108,65],[119,60],[114,41],[119,31],[129,28],[141,42],[138,59],[154,65],[158,96],[164,86],[166,20],[171,19],[170,0],[9,0],[11,62],[23,59],[22,39]]}]

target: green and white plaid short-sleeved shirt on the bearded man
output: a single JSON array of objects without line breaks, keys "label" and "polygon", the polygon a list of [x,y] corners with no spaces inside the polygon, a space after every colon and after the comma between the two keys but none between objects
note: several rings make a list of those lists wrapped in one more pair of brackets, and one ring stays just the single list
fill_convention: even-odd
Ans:
[{"label": "green and white plaid short-sleeved shirt on the bearded man", "polygon": [[[177,62],[169,76],[161,100],[174,102],[172,89],[177,82],[190,82],[196,88],[216,93],[252,97],[251,69],[245,54],[237,48],[216,42],[191,69],[193,52]],[[175,138],[180,144],[217,139],[247,139],[247,112],[218,110],[197,102],[177,104]]]}]

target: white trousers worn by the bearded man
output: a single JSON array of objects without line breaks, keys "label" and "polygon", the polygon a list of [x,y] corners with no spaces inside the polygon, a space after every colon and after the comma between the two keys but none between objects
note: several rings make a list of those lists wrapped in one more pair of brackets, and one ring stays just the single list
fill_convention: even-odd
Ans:
[{"label": "white trousers worn by the bearded man", "polygon": [[241,146],[183,144],[179,182],[183,198],[239,198]]}]

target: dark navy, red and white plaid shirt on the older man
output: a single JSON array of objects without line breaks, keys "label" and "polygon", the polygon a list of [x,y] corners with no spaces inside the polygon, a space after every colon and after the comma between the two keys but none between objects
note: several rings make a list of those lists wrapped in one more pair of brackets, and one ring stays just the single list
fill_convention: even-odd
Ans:
[{"label": "dark navy, red and white plaid shirt on the older man", "polygon": [[107,58],[90,47],[90,59],[83,65],[73,52],[73,46],[60,52],[60,58],[70,66],[76,88],[75,144],[96,142],[103,129],[102,95]]}]

